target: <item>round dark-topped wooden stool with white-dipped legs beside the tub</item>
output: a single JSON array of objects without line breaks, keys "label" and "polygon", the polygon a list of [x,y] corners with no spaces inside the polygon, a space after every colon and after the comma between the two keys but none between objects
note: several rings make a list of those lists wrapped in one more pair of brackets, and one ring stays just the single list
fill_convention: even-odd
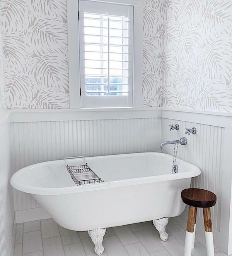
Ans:
[{"label": "round dark-topped wooden stool with white-dipped legs beside the tub", "polygon": [[189,206],[184,256],[191,256],[194,248],[197,208],[203,208],[207,256],[214,256],[210,207],[215,206],[216,195],[205,189],[184,189],[181,197],[183,202]]}]

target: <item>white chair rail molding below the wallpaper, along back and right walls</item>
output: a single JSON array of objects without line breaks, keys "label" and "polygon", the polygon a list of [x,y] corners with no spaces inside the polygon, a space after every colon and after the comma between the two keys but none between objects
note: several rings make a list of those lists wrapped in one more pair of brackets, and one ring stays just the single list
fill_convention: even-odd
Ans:
[{"label": "white chair rail molding below the wallpaper, along back and right walls", "polygon": [[[107,120],[133,118],[166,118],[232,128],[231,112],[211,112],[162,107],[96,108],[96,109],[10,109],[2,119],[10,123]],[[1,121],[1,120],[0,120]]]}]

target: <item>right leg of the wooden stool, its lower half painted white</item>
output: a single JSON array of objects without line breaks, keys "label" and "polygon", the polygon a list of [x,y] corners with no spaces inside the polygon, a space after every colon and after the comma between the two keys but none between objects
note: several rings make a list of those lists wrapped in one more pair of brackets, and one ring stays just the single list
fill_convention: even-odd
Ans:
[{"label": "right leg of the wooden stool, its lower half painted white", "polygon": [[213,230],[210,208],[203,208],[207,256],[214,256]]}]

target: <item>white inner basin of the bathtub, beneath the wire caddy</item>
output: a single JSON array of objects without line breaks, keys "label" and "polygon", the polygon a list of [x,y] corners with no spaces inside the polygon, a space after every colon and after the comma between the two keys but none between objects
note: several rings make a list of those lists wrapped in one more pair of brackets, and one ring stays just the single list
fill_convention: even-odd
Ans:
[{"label": "white inner basin of the bathtub, beneath the wire caddy", "polygon": [[[85,162],[105,181],[120,181],[171,173],[173,157],[160,153],[137,153],[114,156],[87,157]],[[17,172],[18,182],[32,187],[61,188],[73,187],[66,164],[84,164],[84,159],[58,160],[35,164]],[[177,159],[179,173],[196,168]]]}]

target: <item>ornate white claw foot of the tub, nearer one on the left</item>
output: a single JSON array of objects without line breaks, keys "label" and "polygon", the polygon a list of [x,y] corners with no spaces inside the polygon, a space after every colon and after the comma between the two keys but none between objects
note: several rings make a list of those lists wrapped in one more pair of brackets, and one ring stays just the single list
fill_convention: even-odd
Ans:
[{"label": "ornate white claw foot of the tub, nearer one on the left", "polygon": [[102,255],[104,247],[102,245],[103,237],[106,234],[106,228],[97,228],[89,230],[88,234],[94,243],[94,251],[97,255]]}]

